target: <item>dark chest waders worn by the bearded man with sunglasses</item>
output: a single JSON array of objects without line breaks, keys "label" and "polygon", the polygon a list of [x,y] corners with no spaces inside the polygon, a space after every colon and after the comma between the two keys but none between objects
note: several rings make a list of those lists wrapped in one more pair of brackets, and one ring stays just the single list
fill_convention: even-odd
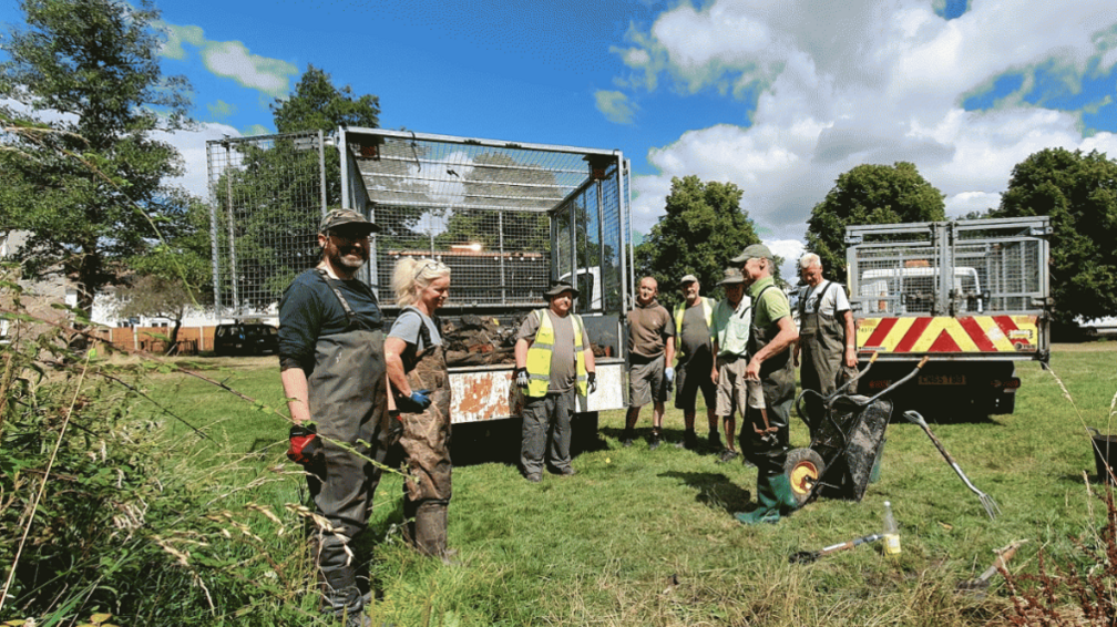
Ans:
[{"label": "dark chest waders worn by the bearded man with sunglasses", "polygon": [[367,568],[370,556],[354,557],[352,541],[369,523],[380,482],[378,464],[388,448],[384,336],[380,329],[364,328],[334,279],[321,269],[318,276],[341,301],[349,325],[341,334],[317,339],[314,372],[307,379],[311,416],[325,450],[307,483],[315,508],[330,523],[314,531],[313,557],[323,609],[344,617],[347,626],[361,625],[364,599],[356,567]]}]

